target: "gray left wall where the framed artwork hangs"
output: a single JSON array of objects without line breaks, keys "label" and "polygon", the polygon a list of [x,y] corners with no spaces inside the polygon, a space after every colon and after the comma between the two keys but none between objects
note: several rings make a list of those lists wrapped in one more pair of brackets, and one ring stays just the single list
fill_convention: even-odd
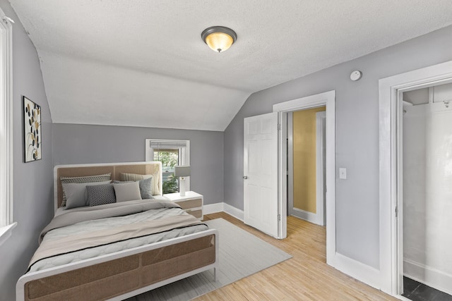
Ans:
[{"label": "gray left wall where the framed artwork hangs", "polygon": [[[52,120],[36,49],[6,0],[0,7],[13,25],[13,219],[18,226],[0,246],[0,300],[15,300],[16,281],[37,248],[37,237],[52,219]],[[42,159],[23,163],[22,95],[42,109]]]}]

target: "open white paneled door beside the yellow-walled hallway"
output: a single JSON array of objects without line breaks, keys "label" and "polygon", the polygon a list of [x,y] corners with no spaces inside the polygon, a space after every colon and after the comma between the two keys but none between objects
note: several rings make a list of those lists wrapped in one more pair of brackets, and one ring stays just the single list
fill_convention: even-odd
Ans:
[{"label": "open white paneled door beside the yellow-walled hallway", "polygon": [[244,223],[278,237],[278,112],[244,118]]}]

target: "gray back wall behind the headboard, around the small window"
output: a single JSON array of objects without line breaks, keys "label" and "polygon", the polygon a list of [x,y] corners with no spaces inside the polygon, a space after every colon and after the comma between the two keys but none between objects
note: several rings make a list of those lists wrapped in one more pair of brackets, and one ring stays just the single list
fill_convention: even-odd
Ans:
[{"label": "gray back wall behind the headboard, around the small window", "polygon": [[144,161],[146,138],[190,140],[191,190],[223,201],[223,132],[54,123],[53,133],[54,165]]}]

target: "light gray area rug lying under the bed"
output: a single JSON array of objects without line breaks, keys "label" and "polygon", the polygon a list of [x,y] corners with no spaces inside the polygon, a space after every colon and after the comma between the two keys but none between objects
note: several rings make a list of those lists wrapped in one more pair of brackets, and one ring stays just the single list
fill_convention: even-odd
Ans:
[{"label": "light gray area rug lying under the bed", "polygon": [[224,219],[206,223],[220,233],[220,268],[216,282],[213,270],[204,271],[127,300],[191,300],[292,257]]}]

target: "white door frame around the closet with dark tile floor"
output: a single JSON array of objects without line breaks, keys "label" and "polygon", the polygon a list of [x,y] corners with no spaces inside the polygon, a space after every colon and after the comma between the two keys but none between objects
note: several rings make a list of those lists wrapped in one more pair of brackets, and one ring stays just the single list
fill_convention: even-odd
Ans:
[{"label": "white door frame around the closet with dark tile floor", "polygon": [[380,288],[390,295],[400,295],[403,274],[403,211],[398,210],[403,208],[400,95],[451,80],[452,61],[379,80]]}]

